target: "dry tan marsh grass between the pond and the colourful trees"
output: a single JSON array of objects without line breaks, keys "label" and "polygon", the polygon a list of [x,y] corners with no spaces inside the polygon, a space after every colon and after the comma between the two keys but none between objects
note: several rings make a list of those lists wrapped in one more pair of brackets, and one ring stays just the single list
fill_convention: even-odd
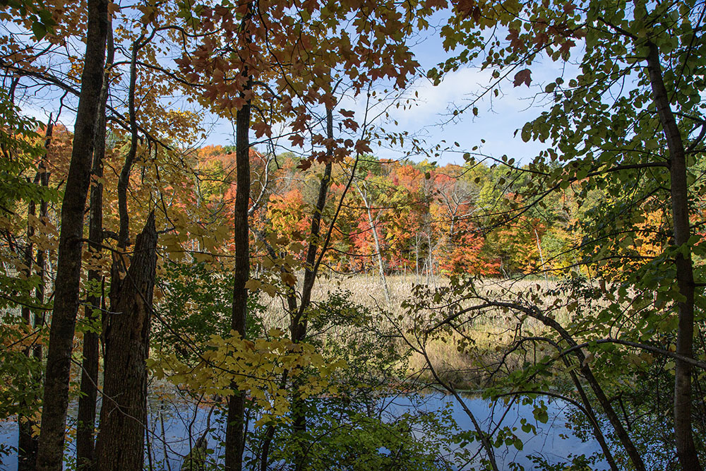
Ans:
[{"label": "dry tan marsh grass between the pond and the colourful trees", "polygon": [[[301,277],[299,277],[301,278]],[[372,312],[378,313],[374,332],[369,335],[390,333],[390,335],[409,332],[414,328],[414,323],[421,321],[431,322],[432,319],[443,318],[443,313],[434,312],[433,309],[420,309],[412,316],[421,314],[412,319],[409,313],[402,309],[405,300],[415,301],[414,285],[419,283],[415,275],[391,275],[387,278],[390,291],[390,306],[385,302],[385,295],[381,281],[373,275],[339,275],[337,277],[323,277],[317,280],[313,288],[312,300],[314,304],[325,306],[325,301],[334,292],[347,292],[350,302],[364,306]],[[426,282],[426,278],[423,280]],[[432,280],[431,290],[436,287],[448,285],[448,278],[437,277]],[[547,280],[481,280],[477,284],[479,293],[491,299],[517,299],[518,294],[524,294],[530,289],[551,290],[556,287],[556,282]],[[551,305],[555,299],[544,299],[546,305]],[[266,328],[287,328],[289,321],[287,312],[281,299],[261,294],[260,303],[265,306],[263,323]],[[462,302],[457,307],[474,304],[475,301]],[[423,311],[423,312],[422,312]],[[566,322],[570,315],[566,309],[554,311],[555,318]],[[523,335],[534,335],[546,331],[539,321],[532,318],[520,319],[513,313],[501,309],[484,310],[479,316],[469,319],[465,331],[460,334],[448,331],[443,335],[434,335],[424,340],[424,351],[429,363],[443,381],[451,386],[462,389],[478,389],[492,380],[491,376],[502,367],[507,372],[520,367],[527,355],[536,356],[537,352],[522,350],[509,357],[503,357],[503,352],[516,340],[519,331]],[[326,326],[318,335],[329,341],[345,337],[352,333],[351,328],[335,325]],[[414,342],[417,339],[412,339]],[[461,346],[465,340],[465,346]],[[405,349],[405,341],[397,340],[400,349]],[[417,344],[419,346],[419,344]],[[460,347],[461,346],[461,347]],[[500,362],[503,362],[501,366]],[[435,382],[429,369],[426,358],[412,352],[408,358],[409,377],[421,381]]]}]

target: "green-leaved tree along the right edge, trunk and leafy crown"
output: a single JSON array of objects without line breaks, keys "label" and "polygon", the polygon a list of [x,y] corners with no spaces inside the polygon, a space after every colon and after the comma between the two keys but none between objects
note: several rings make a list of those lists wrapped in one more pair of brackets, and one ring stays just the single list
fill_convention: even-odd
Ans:
[{"label": "green-leaved tree along the right edge, trunk and leafy crown", "polygon": [[[575,75],[568,82],[558,77],[544,84],[553,104],[522,128],[524,141],[551,145],[527,166],[535,176],[534,198],[517,203],[511,220],[574,182],[580,186],[579,200],[592,189],[618,196],[628,186],[629,195],[623,193],[610,208],[609,220],[597,224],[599,230],[582,241],[583,246],[599,247],[604,238],[632,232],[631,218],[637,218],[642,201],[652,195],[671,207],[670,246],[623,279],[638,292],[657,289],[660,305],[671,306],[678,316],[670,332],[676,335],[680,355],[674,371],[676,450],[683,469],[702,469],[693,439],[691,362],[698,325],[695,306],[702,299],[695,290],[692,254],[698,249],[689,221],[698,198],[690,184],[693,162],[702,153],[706,129],[704,83],[696,78],[703,70],[702,5],[695,1],[635,1],[632,6],[605,1],[530,2],[498,8],[458,5],[455,12],[445,29],[445,47],[458,45],[463,52],[442,68],[457,68],[467,58],[482,54],[482,66],[491,68],[496,80],[489,91],[510,77],[515,86],[531,85],[534,64],[541,59],[578,64],[575,74],[567,71]],[[480,31],[497,25],[506,28],[507,37],[494,37],[488,49],[476,49]],[[576,47],[580,42],[585,49]],[[436,71],[431,76],[436,77]],[[609,263],[608,250],[599,248],[591,262]],[[627,300],[623,294],[617,302]],[[645,339],[644,329],[659,323],[663,315],[659,310],[646,313],[647,325],[622,335]],[[602,331],[601,326],[594,329]],[[638,466],[638,457],[633,464]]]}]

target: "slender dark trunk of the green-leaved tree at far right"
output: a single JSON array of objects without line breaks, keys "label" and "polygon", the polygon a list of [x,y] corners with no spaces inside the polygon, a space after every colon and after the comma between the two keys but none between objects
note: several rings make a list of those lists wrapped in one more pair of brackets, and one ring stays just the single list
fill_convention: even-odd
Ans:
[{"label": "slender dark trunk of the green-leaved tree at far right", "polygon": [[[671,177],[671,216],[674,220],[674,246],[680,249],[676,264],[676,281],[682,301],[676,303],[679,323],[676,336],[676,352],[682,357],[694,356],[694,272],[691,250],[688,246],[690,236],[689,196],[686,179],[686,152],[674,114],[669,105],[669,97],[662,80],[662,66],[659,64],[659,49],[649,42],[650,53],[647,55],[647,71],[650,73],[652,100],[657,108],[659,122],[662,124],[667,148],[669,149],[669,176]],[[698,453],[694,446],[691,429],[691,365],[676,360],[674,372],[674,439],[679,463],[683,470],[702,470]]]}]

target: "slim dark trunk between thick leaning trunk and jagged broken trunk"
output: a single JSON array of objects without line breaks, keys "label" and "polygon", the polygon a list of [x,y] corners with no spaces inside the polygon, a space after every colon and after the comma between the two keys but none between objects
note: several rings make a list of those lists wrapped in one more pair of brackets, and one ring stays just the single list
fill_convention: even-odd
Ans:
[{"label": "slim dark trunk between thick leaning trunk and jagged broken trunk", "polygon": [[[112,29],[112,27],[111,27]],[[106,64],[113,62],[112,30],[108,31]],[[100,93],[100,112],[95,133],[92,174],[97,179],[90,189],[88,215],[88,249],[91,254],[100,254],[103,244],[103,157],[105,155],[105,107],[108,99],[109,75],[103,78]],[[84,311],[89,328],[83,334],[83,363],[81,368],[81,395],[78,398],[78,425],[76,427],[76,467],[91,470],[95,461],[95,410],[98,397],[98,344],[97,326],[101,316],[101,296],[96,290],[102,280],[100,270],[88,270],[88,294]]]}]

